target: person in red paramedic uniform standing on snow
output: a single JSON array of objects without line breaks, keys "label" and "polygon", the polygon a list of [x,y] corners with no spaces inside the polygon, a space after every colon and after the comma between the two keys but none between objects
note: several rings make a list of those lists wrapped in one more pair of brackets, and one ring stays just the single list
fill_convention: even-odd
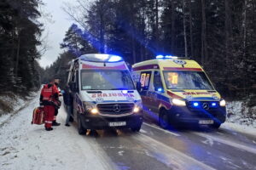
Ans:
[{"label": "person in red paramedic uniform standing on snow", "polygon": [[40,105],[44,105],[44,127],[46,131],[53,130],[51,127],[55,116],[55,106],[53,102],[59,99],[58,90],[54,87],[54,83],[54,80],[52,80],[49,84],[45,84],[40,95]]}]

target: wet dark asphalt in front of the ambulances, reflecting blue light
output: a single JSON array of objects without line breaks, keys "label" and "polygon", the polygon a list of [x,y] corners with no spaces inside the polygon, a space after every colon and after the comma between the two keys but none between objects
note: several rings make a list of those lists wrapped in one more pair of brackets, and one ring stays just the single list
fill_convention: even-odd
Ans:
[{"label": "wet dark asphalt in front of the ambulances, reflecting blue light", "polygon": [[161,129],[144,122],[139,133],[129,129],[90,131],[117,169],[256,169],[256,137],[207,127]]}]

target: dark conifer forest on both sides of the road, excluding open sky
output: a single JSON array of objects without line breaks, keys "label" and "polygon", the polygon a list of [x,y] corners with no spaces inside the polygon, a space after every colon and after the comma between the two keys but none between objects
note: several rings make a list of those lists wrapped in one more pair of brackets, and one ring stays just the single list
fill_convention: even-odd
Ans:
[{"label": "dark conifer forest on both sides of the road, excluding open sky", "polygon": [[63,53],[44,70],[37,47],[40,0],[0,2],[0,94],[27,93],[60,77],[80,54],[119,54],[131,65],[157,54],[195,59],[224,97],[256,94],[256,1],[76,0],[63,10],[73,20]]}]

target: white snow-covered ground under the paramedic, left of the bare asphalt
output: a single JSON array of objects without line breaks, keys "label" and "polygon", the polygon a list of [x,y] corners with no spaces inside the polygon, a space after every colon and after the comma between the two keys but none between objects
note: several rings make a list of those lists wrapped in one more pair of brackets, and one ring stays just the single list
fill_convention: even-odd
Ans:
[{"label": "white snow-covered ground under the paramedic, left of the bare asphalt", "polygon": [[32,125],[32,111],[38,98],[30,105],[9,117],[0,127],[0,169],[115,169],[95,139],[80,136],[76,127],[65,127],[66,113],[61,107],[53,131],[44,125]]}]

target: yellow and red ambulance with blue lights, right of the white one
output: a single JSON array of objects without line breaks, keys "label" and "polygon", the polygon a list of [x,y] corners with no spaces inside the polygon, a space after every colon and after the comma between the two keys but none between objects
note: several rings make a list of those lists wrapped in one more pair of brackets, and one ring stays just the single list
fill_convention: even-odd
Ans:
[{"label": "yellow and red ambulance with blue lights, right of the white one", "polygon": [[132,77],[144,116],[157,120],[160,127],[218,128],[226,119],[225,100],[195,60],[158,55],[132,65]]}]

